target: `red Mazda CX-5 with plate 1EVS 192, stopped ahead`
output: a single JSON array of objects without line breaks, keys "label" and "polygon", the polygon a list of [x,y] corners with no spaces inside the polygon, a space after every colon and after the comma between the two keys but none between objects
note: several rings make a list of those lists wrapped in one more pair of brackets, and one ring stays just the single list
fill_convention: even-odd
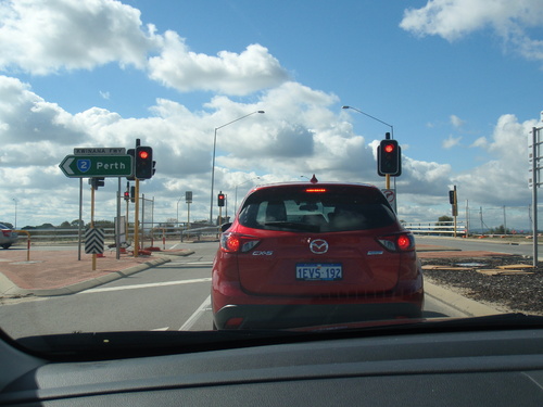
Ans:
[{"label": "red Mazda CX-5 with plate 1EVS 192, stopped ahead", "polygon": [[223,230],[213,264],[215,329],[421,315],[414,237],[374,186],[256,187]]}]

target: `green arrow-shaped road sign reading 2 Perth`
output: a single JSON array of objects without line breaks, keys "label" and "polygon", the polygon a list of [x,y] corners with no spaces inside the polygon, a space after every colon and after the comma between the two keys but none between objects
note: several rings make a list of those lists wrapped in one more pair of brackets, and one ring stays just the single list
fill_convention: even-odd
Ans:
[{"label": "green arrow-shaped road sign reading 2 Perth", "polygon": [[131,155],[66,155],[59,165],[70,178],[129,177]]}]

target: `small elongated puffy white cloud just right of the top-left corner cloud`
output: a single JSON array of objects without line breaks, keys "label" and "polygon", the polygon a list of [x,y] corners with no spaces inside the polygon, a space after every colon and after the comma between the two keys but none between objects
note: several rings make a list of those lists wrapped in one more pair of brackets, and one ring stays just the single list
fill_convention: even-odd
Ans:
[{"label": "small elongated puffy white cloud just right of the top-left corner cloud", "polygon": [[279,62],[260,44],[241,53],[222,51],[211,56],[190,51],[185,40],[166,31],[160,56],[149,60],[150,77],[180,91],[203,89],[227,94],[248,94],[287,80]]}]

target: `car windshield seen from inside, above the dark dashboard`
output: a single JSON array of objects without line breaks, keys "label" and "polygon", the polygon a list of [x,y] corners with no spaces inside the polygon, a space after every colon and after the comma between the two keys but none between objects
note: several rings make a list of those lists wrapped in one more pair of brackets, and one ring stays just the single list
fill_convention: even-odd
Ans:
[{"label": "car windshield seen from inside, above the dark dashboard", "polygon": [[543,315],[540,1],[212,3],[1,2],[8,335]]}]

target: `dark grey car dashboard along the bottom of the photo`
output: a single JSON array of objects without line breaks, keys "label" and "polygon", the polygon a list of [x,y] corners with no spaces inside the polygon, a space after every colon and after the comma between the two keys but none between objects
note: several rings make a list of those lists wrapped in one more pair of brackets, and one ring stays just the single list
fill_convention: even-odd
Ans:
[{"label": "dark grey car dashboard along the bottom of the photo", "polygon": [[3,341],[0,406],[543,406],[543,329],[326,338],[89,361]]}]

